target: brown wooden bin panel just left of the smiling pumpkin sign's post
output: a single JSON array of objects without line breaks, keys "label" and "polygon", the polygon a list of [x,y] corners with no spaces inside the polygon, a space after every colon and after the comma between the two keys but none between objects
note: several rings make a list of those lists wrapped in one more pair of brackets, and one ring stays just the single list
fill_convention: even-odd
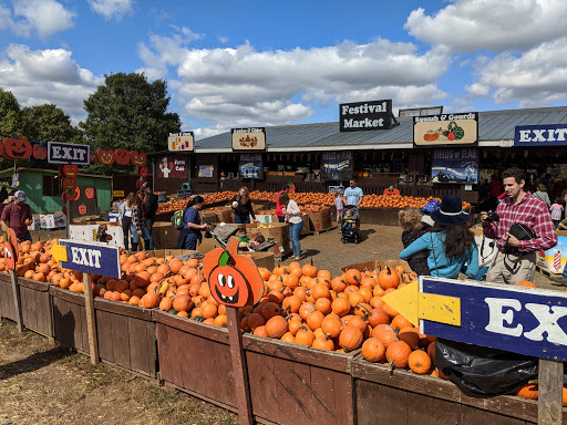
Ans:
[{"label": "brown wooden bin panel just left of the smiling pumpkin sign's post", "polygon": [[152,311],[161,379],[166,384],[236,412],[228,331]]}]

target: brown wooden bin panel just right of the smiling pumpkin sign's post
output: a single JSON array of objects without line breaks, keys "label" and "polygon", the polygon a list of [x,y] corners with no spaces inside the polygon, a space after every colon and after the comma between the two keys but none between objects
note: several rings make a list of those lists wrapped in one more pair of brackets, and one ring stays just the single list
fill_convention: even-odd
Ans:
[{"label": "brown wooden bin panel just right of the smiling pumpkin sign's post", "polygon": [[354,424],[350,354],[243,336],[257,422]]}]

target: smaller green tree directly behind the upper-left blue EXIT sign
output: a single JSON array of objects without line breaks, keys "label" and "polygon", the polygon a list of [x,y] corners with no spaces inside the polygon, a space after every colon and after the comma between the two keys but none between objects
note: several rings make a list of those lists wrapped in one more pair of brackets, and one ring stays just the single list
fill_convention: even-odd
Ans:
[{"label": "smaller green tree directly behind the upper-left blue EXIT sign", "polygon": [[53,104],[24,107],[21,116],[23,134],[29,141],[81,142],[81,131],[73,127],[69,115]]}]

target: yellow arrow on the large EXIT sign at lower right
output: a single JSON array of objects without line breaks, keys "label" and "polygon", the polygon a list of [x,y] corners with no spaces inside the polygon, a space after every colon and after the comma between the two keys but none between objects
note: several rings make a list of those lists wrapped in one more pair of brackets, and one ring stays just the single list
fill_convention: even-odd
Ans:
[{"label": "yellow arrow on the large EXIT sign at lower right", "polygon": [[382,300],[415,326],[420,319],[461,325],[461,299],[421,293],[419,281],[382,297]]}]

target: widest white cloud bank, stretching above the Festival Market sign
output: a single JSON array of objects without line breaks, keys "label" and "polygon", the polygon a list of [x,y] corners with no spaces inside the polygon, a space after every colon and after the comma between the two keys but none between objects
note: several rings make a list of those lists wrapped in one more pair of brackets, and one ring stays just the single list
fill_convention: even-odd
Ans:
[{"label": "widest white cloud bank, stretching above the Festival Market sign", "polygon": [[291,124],[329,102],[394,99],[395,107],[429,105],[446,96],[435,80],[452,61],[446,48],[420,54],[412,43],[383,39],[261,52],[249,44],[188,49],[174,38],[161,41],[161,46],[152,41],[153,49],[141,49],[146,64],[141,71],[165,75],[169,64],[176,66],[178,80],[169,87],[177,91],[187,121],[210,123],[197,134]]}]

